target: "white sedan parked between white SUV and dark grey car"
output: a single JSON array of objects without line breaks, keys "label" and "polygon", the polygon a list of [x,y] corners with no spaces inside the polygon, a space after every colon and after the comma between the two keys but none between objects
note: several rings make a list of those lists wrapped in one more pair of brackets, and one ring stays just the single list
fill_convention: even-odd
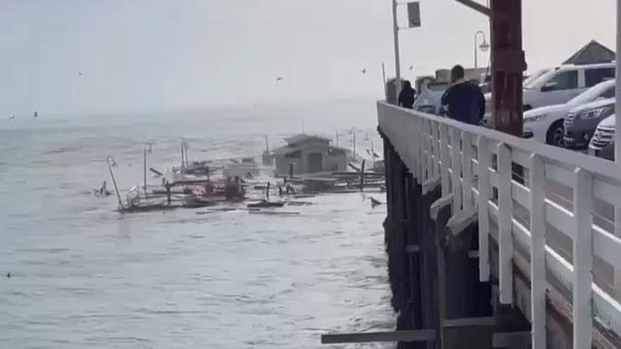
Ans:
[{"label": "white sedan parked between white SUV and dark grey car", "polygon": [[580,104],[615,96],[615,81],[599,83],[564,104],[539,107],[524,112],[524,138],[563,147],[563,120],[567,112]]}]

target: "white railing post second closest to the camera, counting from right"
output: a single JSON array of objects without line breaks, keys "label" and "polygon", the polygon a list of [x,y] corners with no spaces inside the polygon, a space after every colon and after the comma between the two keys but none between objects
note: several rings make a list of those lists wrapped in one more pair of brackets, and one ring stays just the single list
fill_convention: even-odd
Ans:
[{"label": "white railing post second closest to the camera, counting from right", "polygon": [[545,165],[530,156],[530,313],[533,349],[546,348]]}]

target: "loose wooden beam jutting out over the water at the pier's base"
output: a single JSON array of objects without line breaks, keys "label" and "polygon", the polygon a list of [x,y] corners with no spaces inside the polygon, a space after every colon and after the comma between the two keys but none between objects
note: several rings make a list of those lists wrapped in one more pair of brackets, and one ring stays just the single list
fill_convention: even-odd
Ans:
[{"label": "loose wooden beam jutting out over the water at the pier's base", "polygon": [[435,330],[401,330],[394,332],[335,333],[321,335],[322,344],[369,342],[428,342],[435,340]]}]

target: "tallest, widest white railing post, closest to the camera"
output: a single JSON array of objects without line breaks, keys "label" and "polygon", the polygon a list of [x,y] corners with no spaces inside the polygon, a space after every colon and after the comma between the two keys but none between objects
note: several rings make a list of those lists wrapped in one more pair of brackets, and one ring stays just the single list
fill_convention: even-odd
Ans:
[{"label": "tallest, widest white railing post, closest to the camera", "polygon": [[592,270],[593,270],[593,233],[592,233],[592,180],[588,171],[577,168],[574,171],[574,289],[573,289],[573,325],[574,348],[591,348],[593,337],[592,317]]}]

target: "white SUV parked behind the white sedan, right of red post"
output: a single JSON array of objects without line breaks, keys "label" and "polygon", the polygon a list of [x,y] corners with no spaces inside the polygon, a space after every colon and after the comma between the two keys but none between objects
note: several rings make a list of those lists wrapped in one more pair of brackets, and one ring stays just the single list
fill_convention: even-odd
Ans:
[{"label": "white SUV parked behind the white sedan, right of red post", "polygon": [[[559,65],[538,71],[522,84],[524,111],[553,104],[563,104],[605,79],[615,78],[615,63]],[[491,112],[491,93],[486,94],[486,112]],[[489,116],[488,116],[489,117]]]}]

